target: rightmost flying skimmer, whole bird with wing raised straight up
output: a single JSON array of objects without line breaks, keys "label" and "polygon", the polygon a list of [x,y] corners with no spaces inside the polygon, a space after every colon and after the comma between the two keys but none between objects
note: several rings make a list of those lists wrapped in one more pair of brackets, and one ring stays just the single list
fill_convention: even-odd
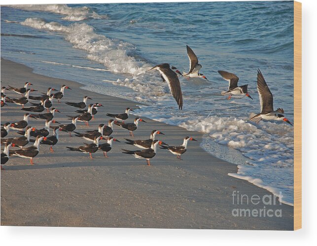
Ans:
[{"label": "rightmost flying skimmer, whole bird with wing raised straight up", "polygon": [[284,110],[278,108],[274,111],[273,109],[273,95],[265,82],[265,79],[260,70],[257,70],[257,91],[259,93],[261,112],[258,114],[251,113],[250,121],[259,123],[262,119],[264,120],[277,120],[285,121],[292,125],[287,118],[283,115]]}]

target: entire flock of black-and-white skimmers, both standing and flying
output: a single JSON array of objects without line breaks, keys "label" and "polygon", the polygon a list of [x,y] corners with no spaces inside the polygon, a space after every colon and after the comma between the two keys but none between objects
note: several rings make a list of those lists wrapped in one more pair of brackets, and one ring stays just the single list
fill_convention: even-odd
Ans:
[{"label": "entire flock of black-and-white skimmers, both standing and flying", "polygon": [[[183,100],[182,100],[182,92],[180,88],[180,82],[178,79],[178,75],[185,77],[186,79],[190,78],[203,78],[207,79],[207,77],[200,73],[200,69],[202,65],[198,63],[198,58],[194,51],[186,45],[187,55],[189,58],[189,66],[190,69],[188,73],[181,73],[177,70],[176,67],[171,66],[168,63],[163,63],[157,65],[150,70],[158,70],[161,74],[161,78],[163,82],[167,82],[173,97],[175,98],[178,109],[182,109]],[[150,71],[149,70],[149,71]],[[232,95],[238,96],[247,96],[250,99],[252,97],[247,92],[247,84],[238,86],[239,77],[233,73],[219,70],[218,73],[227,81],[229,81],[229,88],[227,91],[221,92],[221,95],[228,96],[228,100],[231,99]],[[133,111],[131,108],[127,107],[124,113],[119,114],[110,114],[107,113],[108,117],[114,118],[108,121],[108,125],[100,124],[98,130],[86,131],[85,133],[75,132],[77,121],[84,122],[87,126],[89,126],[89,121],[94,118],[94,115],[98,112],[98,107],[103,106],[100,103],[89,104],[87,105],[87,100],[91,100],[90,97],[85,96],[82,102],[72,103],[66,102],[67,105],[72,107],[79,108],[75,112],[79,113],[76,116],[70,116],[69,119],[71,123],[69,124],[60,124],[56,120],[54,120],[54,115],[56,112],[60,112],[57,108],[52,107],[53,99],[57,99],[58,103],[61,103],[61,99],[64,97],[65,89],[70,89],[69,86],[63,85],[61,90],[57,93],[52,93],[52,91],[56,91],[54,88],[48,88],[46,93],[42,93],[40,96],[31,96],[31,92],[35,92],[35,89],[28,88],[32,84],[30,82],[26,82],[24,87],[22,88],[14,88],[12,86],[2,87],[1,88],[1,107],[6,105],[7,103],[12,103],[16,105],[22,105],[21,110],[28,111],[31,113],[25,113],[23,120],[14,123],[5,123],[3,127],[1,127],[1,143],[5,144],[4,151],[1,153],[1,164],[6,163],[9,160],[10,156],[18,156],[23,158],[30,158],[31,164],[33,163],[33,158],[39,152],[39,145],[46,144],[50,145],[50,151],[54,152],[53,146],[57,144],[59,139],[59,131],[67,132],[70,134],[71,132],[75,133],[75,136],[83,138],[87,141],[92,141],[92,143],[84,143],[83,146],[78,147],[67,147],[70,151],[80,151],[84,153],[89,153],[92,158],[92,153],[95,153],[97,150],[101,150],[104,152],[104,156],[107,157],[106,153],[109,152],[112,148],[112,142],[118,141],[113,137],[109,137],[113,132],[113,125],[117,125],[122,129],[126,129],[130,132],[130,136],[134,137],[133,132],[138,129],[140,122],[145,122],[140,117],[135,118],[133,123],[125,123],[124,121],[129,118],[129,113]],[[4,93],[5,90],[16,92],[22,95],[21,98],[9,98]],[[257,91],[259,94],[259,101],[261,112],[260,113],[251,113],[249,120],[253,122],[260,122],[262,119],[264,120],[276,120],[276,121],[285,121],[289,124],[289,120],[284,117],[284,110],[282,108],[278,108],[274,110],[273,108],[273,95],[261,73],[260,70],[257,71]],[[39,101],[40,103],[30,102]],[[25,104],[30,103],[31,107],[24,107]],[[87,107],[87,108],[86,108]],[[86,108],[86,109],[85,109]],[[47,110],[46,113],[41,113],[44,110]],[[35,129],[34,127],[29,126],[29,118],[35,119],[44,119],[45,126],[42,129]],[[57,126],[51,126],[51,124],[59,124]],[[292,125],[292,124],[291,124]],[[22,137],[17,138],[9,138],[3,139],[9,133],[9,130],[17,130],[18,134],[23,135]],[[50,129],[53,129],[53,135],[49,136]],[[134,155],[136,158],[146,159],[147,165],[150,165],[150,159],[153,158],[156,154],[156,149],[158,145],[161,145],[162,149],[167,149],[171,153],[175,154],[178,159],[181,160],[181,155],[187,150],[188,141],[196,141],[191,137],[186,137],[183,140],[183,144],[179,146],[169,146],[163,141],[155,140],[155,136],[157,134],[163,134],[161,131],[153,130],[150,135],[150,139],[148,140],[130,140],[125,139],[127,144],[134,145],[142,150],[127,150],[122,149],[123,153]],[[49,136],[49,137],[48,137]],[[34,137],[35,139],[30,139],[30,137]],[[100,144],[99,141],[105,139],[107,142]],[[32,146],[24,147],[29,142],[34,142]],[[10,150],[10,147],[20,147],[20,149]],[[2,166],[1,166],[2,169]]]}]

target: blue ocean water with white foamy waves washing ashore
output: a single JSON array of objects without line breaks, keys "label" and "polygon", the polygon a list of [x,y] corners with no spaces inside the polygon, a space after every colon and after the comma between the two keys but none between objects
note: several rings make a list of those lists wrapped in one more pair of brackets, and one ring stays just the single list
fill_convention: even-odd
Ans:
[{"label": "blue ocean water with white foamy waves washing ashore", "polygon": [[[158,72],[147,70],[170,63],[188,71],[186,44],[209,81],[180,78],[180,111]],[[259,68],[274,107],[293,122],[292,1],[1,6],[1,57],[144,104],[136,115],[205,133],[206,151],[238,165],[230,176],[293,204],[293,127],[248,121],[260,112]],[[217,70],[237,74],[254,100],[221,96],[228,82]]]}]

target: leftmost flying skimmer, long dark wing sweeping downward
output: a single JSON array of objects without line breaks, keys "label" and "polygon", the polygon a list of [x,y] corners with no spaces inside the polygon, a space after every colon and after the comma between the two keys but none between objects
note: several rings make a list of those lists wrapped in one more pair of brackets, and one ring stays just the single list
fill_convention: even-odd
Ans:
[{"label": "leftmost flying skimmer, long dark wing sweeping downward", "polygon": [[[178,79],[176,72],[172,69],[172,67],[168,63],[163,63],[163,64],[160,64],[160,65],[157,65],[157,66],[151,68],[150,70],[156,69],[160,72],[161,76],[164,78],[164,80],[169,85],[171,93],[172,93],[173,97],[175,98],[176,103],[178,105],[178,109],[182,109],[183,96],[181,93],[180,82],[179,82],[179,79]],[[176,70],[176,71],[178,71],[178,70]]]}]

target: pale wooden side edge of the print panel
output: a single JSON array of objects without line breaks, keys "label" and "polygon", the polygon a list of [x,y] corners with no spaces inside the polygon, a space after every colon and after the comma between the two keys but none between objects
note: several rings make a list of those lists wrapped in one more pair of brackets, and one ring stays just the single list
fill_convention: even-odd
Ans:
[{"label": "pale wooden side edge of the print panel", "polygon": [[302,228],[302,3],[294,1],[294,230]]}]

